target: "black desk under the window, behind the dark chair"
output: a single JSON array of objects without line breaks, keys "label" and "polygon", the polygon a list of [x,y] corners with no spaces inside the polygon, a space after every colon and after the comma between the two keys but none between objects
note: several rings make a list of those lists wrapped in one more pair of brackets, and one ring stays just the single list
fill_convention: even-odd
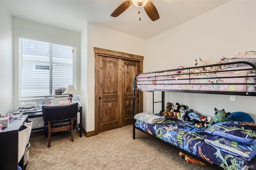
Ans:
[{"label": "black desk under the window, behind the dark chair", "polygon": [[[80,113],[80,123],[78,124],[77,131],[79,133],[79,136],[82,137],[82,106],[77,108],[77,112]],[[18,113],[20,113],[19,109],[14,112],[14,114],[18,114]],[[43,117],[42,109],[38,109],[37,111],[34,111],[34,112],[23,113],[23,115],[28,115],[28,118]],[[42,130],[42,129],[44,128],[43,127],[36,128],[36,129],[32,129],[32,131]]]}]

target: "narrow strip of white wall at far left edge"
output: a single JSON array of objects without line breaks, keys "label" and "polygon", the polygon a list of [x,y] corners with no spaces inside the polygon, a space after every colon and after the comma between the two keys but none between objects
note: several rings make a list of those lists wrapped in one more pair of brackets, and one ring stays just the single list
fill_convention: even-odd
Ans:
[{"label": "narrow strip of white wall at far left edge", "polygon": [[12,15],[0,1],[0,113],[12,113],[13,105]]}]

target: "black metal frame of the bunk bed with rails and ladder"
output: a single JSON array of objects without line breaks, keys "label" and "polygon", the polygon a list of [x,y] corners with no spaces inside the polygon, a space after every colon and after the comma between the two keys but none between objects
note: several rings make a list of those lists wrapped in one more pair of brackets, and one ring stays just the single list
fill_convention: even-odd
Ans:
[{"label": "black metal frame of the bunk bed with rails and ladder", "polygon": [[[153,91],[153,112],[154,112],[154,104],[155,103],[162,103],[162,111],[164,111],[164,93],[165,92],[182,92],[182,93],[207,93],[207,94],[221,94],[221,95],[241,95],[241,96],[256,96],[256,83],[226,83],[226,84],[230,84],[230,85],[254,85],[254,89],[255,89],[255,92],[238,92],[238,91],[198,91],[198,90],[177,90],[177,89],[151,89],[151,88],[139,88],[138,87],[138,80],[136,79],[136,77],[138,77],[138,75],[145,75],[145,77],[148,77],[147,74],[150,74],[150,73],[162,73],[162,72],[166,72],[166,71],[177,71],[177,70],[184,70],[184,69],[188,69],[189,70],[189,73],[186,73],[188,75],[188,80],[191,81],[195,78],[191,77],[193,74],[196,74],[196,73],[190,73],[190,70],[192,69],[198,69],[198,68],[203,68],[203,67],[214,67],[214,66],[221,66],[221,65],[232,65],[232,64],[243,64],[243,65],[248,65],[248,66],[251,66],[250,69],[230,69],[228,71],[241,71],[241,70],[254,70],[254,79],[256,80],[256,65],[250,63],[250,62],[246,62],[246,61],[236,61],[236,62],[230,62],[230,63],[218,63],[218,64],[212,64],[212,65],[204,65],[204,66],[196,66],[196,67],[187,67],[187,68],[179,68],[179,69],[170,69],[170,70],[164,70],[164,71],[155,71],[155,72],[148,72],[148,73],[140,73],[140,74],[137,74],[135,77],[134,77],[134,80],[133,80],[133,113],[134,115],[136,115],[136,102],[135,102],[135,92],[136,90],[144,90],[144,91]],[[206,73],[225,73],[227,71],[225,70],[220,70],[220,71],[209,71],[209,72],[206,72]],[[182,74],[180,74],[182,75]],[[156,77],[161,77],[161,76],[166,76],[166,75],[154,75],[152,77],[156,78]],[[151,77],[151,78],[152,78]],[[237,77],[241,77],[241,76],[234,76],[234,77],[225,77],[225,78],[237,78]],[[243,76],[243,77],[252,77],[252,76]],[[223,77],[218,77],[218,78],[223,78]],[[200,79],[204,79],[204,78],[200,78]],[[207,79],[207,78],[205,78]],[[148,81],[151,81],[151,80],[148,80]],[[178,84],[178,83],[177,83]],[[206,83],[202,83],[203,84],[206,84]],[[218,84],[218,83],[212,83],[212,84]],[[225,84],[225,83],[222,83],[222,84]],[[166,84],[168,85],[168,84]],[[184,83],[180,83],[180,85],[184,85]],[[154,91],[161,91],[162,92],[162,97],[161,97],[161,101],[154,101]],[[133,115],[133,116],[134,116]],[[195,156],[193,154],[191,154],[190,152],[187,152],[185,150],[182,150],[181,148],[177,147],[177,146],[174,146],[152,134],[149,134],[147,132],[145,132],[144,130],[141,130],[140,128],[136,128],[135,127],[135,119],[133,119],[133,139],[135,139],[135,129],[138,129],[140,130],[141,132],[144,132],[150,136],[153,136],[154,138],[157,138],[158,140],[161,140],[162,142],[165,142],[169,145],[171,145],[172,147],[182,151],[183,153],[186,153],[188,156],[192,156],[193,158],[196,158],[197,160],[201,161],[201,162],[204,162],[205,164],[215,168],[215,169],[218,169],[218,170],[222,170],[222,168],[214,165],[214,164],[211,164],[210,162],[207,162],[206,160],[198,157],[198,156]]]}]

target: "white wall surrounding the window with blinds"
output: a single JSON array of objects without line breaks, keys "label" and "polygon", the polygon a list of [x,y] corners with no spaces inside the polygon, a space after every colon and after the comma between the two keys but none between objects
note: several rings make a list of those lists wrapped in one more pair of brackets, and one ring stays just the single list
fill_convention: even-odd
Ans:
[{"label": "white wall surrounding the window with blinds", "polygon": [[[44,24],[30,22],[19,18],[13,18],[13,59],[14,59],[14,88],[13,109],[18,108],[20,102],[36,101],[40,104],[41,99],[19,99],[19,35],[34,36],[59,42],[76,44],[76,89],[80,91],[80,33],[56,28]],[[58,104],[61,98],[52,98],[52,103]],[[66,99],[66,98],[65,98]]]}]

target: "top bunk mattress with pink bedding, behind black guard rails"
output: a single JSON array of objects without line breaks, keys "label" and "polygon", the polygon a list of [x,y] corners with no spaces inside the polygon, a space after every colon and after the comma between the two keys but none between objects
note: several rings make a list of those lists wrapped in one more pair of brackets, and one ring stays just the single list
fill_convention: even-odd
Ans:
[{"label": "top bunk mattress with pink bedding, behind black guard rails", "polygon": [[[233,67],[234,65],[236,67]],[[208,71],[202,66],[138,74],[134,79],[134,87],[148,92],[170,89],[173,91],[256,92],[254,64],[232,62],[208,65],[208,67],[210,68]],[[213,69],[215,67],[217,69]]]}]

